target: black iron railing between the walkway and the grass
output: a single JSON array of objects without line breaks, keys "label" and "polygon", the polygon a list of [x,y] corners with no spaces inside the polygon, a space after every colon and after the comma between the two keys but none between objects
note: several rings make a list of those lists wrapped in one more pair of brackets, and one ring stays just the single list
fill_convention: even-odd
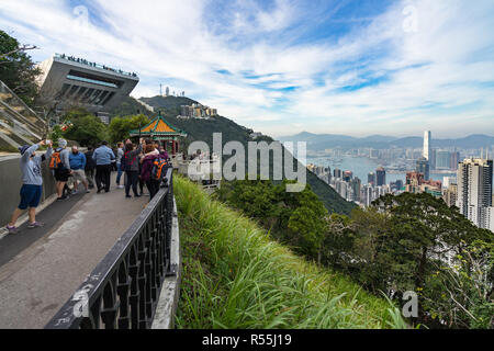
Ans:
[{"label": "black iron railing between the walkway and the grass", "polygon": [[172,169],[160,191],[96,267],[47,329],[150,328],[170,264]]}]

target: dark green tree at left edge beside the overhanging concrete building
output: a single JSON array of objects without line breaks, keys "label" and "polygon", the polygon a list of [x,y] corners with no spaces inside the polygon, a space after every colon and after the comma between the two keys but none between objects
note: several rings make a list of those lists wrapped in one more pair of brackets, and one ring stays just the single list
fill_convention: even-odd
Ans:
[{"label": "dark green tree at left edge beside the overhanging concrete building", "polygon": [[36,79],[41,70],[25,52],[34,48],[32,45],[21,45],[0,31],[0,80],[30,106],[38,92]]}]

